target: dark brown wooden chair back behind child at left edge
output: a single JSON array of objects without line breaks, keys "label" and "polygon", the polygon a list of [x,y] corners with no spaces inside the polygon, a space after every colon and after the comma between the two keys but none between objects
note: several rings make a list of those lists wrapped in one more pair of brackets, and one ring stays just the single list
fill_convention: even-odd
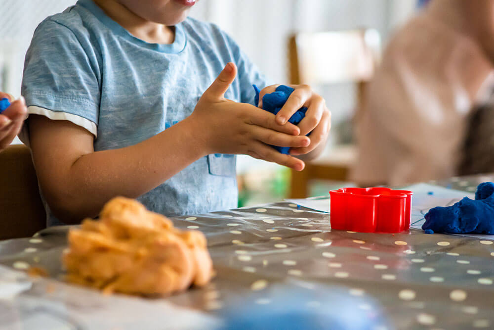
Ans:
[{"label": "dark brown wooden chair back behind child at left edge", "polygon": [[14,144],[0,152],[0,239],[28,237],[46,227],[31,152]]}]

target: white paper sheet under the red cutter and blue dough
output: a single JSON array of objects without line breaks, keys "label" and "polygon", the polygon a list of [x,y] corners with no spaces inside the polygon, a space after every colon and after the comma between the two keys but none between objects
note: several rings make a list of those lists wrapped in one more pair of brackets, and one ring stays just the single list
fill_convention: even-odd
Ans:
[{"label": "white paper sheet under the red cutter and blue dough", "polygon": [[[412,197],[412,220],[411,228],[422,229],[425,222],[424,215],[435,206],[450,206],[463,197],[474,198],[471,192],[447,189],[429,184],[416,184],[403,189],[413,191]],[[313,209],[319,212],[329,213],[329,196],[319,196],[306,199],[286,199],[289,203],[294,203],[302,207]],[[476,234],[451,234],[456,236],[476,237],[483,239],[493,239],[494,235]]]}]

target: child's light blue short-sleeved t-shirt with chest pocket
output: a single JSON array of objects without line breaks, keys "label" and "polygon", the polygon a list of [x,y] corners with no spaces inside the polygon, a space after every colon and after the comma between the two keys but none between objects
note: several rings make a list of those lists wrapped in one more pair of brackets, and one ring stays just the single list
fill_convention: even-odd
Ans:
[{"label": "child's light blue short-sleeved t-shirt with chest pocket", "polygon": [[[22,94],[29,113],[84,127],[95,137],[95,151],[116,149],[189,116],[229,61],[239,70],[225,97],[253,103],[251,86],[265,86],[264,78],[214,24],[187,18],[175,26],[172,44],[150,44],[91,0],[80,0],[36,29]],[[235,163],[234,155],[208,155],[138,200],[167,216],[236,207]],[[45,207],[47,224],[60,224]]]}]

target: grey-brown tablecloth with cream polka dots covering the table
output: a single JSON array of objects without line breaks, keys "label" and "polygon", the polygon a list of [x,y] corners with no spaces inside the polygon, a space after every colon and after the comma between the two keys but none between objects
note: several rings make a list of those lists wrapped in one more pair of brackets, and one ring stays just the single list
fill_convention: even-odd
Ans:
[{"label": "grey-brown tablecloth with cream polka dots covering the table", "polygon": [[[492,179],[437,184],[471,191]],[[368,329],[494,329],[491,240],[418,230],[331,231],[328,214],[284,202],[172,220],[178,228],[206,234],[217,274],[204,288],[164,298],[174,306],[223,315],[240,303],[269,312],[282,303],[277,292],[283,291],[286,300],[318,310],[337,306],[330,297],[338,292],[338,308],[369,319]],[[50,228],[33,238],[2,241],[0,264],[17,270],[41,266],[59,278],[66,231]],[[290,297],[299,290],[303,298]]]}]

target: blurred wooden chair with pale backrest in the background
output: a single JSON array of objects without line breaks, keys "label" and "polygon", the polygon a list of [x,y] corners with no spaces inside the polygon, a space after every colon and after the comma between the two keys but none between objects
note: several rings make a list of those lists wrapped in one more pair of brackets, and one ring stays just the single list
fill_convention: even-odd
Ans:
[{"label": "blurred wooden chair with pale backrest in the background", "polygon": [[[380,60],[379,33],[372,29],[341,32],[297,33],[288,42],[291,84],[355,82],[354,121],[365,105],[368,82]],[[357,159],[354,145],[336,146],[329,154],[307,162],[302,172],[291,171],[291,198],[308,196],[310,180],[348,181]]]}]

